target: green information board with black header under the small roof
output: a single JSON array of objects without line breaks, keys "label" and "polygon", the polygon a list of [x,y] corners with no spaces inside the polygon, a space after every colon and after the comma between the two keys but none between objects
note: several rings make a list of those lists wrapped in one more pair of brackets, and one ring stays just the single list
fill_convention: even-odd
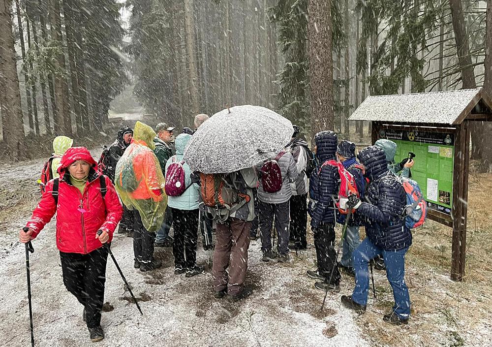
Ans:
[{"label": "green information board with black header under the small roof", "polygon": [[397,144],[395,161],[415,154],[412,179],[417,181],[429,208],[451,216],[455,134],[446,132],[382,129],[379,138]]}]

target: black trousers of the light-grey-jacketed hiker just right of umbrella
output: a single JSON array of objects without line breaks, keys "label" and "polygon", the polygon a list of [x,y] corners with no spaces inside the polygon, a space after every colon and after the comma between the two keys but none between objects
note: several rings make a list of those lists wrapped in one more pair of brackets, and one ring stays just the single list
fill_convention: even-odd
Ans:
[{"label": "black trousers of the light-grey-jacketed hiker just right of umbrella", "polygon": [[293,241],[298,249],[307,247],[307,194],[292,195],[290,198],[290,241]]}]

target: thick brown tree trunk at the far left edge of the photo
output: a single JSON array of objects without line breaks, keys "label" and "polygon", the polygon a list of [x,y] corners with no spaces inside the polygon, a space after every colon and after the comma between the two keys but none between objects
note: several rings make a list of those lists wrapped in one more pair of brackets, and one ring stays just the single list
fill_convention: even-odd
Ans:
[{"label": "thick brown tree trunk at the far left edge of the photo", "polygon": [[12,34],[11,1],[0,0],[0,107],[2,115],[3,148],[12,160],[26,156],[24,121],[14,37]]}]

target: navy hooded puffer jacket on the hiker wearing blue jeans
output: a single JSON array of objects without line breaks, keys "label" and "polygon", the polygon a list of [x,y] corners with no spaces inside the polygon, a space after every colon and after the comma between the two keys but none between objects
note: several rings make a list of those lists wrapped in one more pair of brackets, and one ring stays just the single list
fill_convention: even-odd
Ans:
[{"label": "navy hooded puffer jacket on the hiker wearing blue jeans", "polygon": [[358,155],[369,178],[366,199],[357,209],[370,242],[384,250],[400,250],[412,244],[412,234],[400,216],[406,204],[406,195],[400,181],[388,170],[386,155],[371,146]]}]

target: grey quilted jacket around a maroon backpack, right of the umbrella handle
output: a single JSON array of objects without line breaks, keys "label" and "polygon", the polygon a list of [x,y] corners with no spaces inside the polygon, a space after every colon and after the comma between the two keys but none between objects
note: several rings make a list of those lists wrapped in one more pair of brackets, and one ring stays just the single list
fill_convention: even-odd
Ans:
[{"label": "grey quilted jacket around a maroon backpack, right of the umbrella handle", "polygon": [[[271,160],[275,159],[275,157],[277,157],[277,155],[273,156]],[[258,199],[267,204],[282,204],[289,201],[292,196],[290,184],[294,183],[299,176],[296,162],[290,152],[286,152],[277,162],[280,167],[280,172],[282,173],[282,188],[275,193],[267,193],[263,190],[263,185],[261,180],[259,180]],[[260,163],[256,166],[258,172],[260,172],[262,165],[263,163]]]}]

